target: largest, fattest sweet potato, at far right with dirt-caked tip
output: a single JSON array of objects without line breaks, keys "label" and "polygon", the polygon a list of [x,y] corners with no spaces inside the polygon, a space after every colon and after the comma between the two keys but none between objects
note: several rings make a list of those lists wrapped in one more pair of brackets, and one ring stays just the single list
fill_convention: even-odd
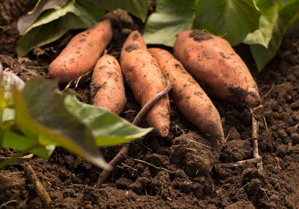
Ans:
[{"label": "largest, fattest sweet potato, at far right with dirt-caked tip", "polygon": [[187,30],[177,35],[174,51],[208,94],[249,107],[261,104],[248,67],[225,39],[202,30]]}]

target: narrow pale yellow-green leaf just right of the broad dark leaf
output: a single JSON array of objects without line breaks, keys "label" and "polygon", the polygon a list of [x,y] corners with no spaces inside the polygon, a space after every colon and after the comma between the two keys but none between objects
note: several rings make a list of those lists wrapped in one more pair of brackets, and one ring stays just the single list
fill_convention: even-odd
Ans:
[{"label": "narrow pale yellow-green leaf just right of the broad dark leaf", "polygon": [[261,44],[267,48],[272,37],[277,9],[272,0],[255,0],[255,2],[261,12],[259,29],[249,33],[243,43]]}]

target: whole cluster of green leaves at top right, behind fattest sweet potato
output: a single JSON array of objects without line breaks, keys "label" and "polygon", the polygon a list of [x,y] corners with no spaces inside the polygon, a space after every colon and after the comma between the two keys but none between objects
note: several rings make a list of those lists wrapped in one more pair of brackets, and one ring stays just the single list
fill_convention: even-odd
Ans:
[{"label": "whole cluster of green leaves at top right, behind fattest sweet potato", "polygon": [[176,34],[205,29],[232,46],[250,44],[258,70],[276,54],[286,30],[299,18],[299,0],[157,0],[144,30],[147,44],[172,47]]}]

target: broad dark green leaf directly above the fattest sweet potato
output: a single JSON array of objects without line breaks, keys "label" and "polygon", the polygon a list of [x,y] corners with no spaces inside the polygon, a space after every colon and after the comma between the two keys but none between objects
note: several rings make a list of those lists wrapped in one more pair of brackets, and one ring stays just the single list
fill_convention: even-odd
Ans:
[{"label": "broad dark green leaf directly above the fattest sweet potato", "polygon": [[252,0],[200,0],[193,28],[206,29],[236,46],[258,29],[259,18]]}]

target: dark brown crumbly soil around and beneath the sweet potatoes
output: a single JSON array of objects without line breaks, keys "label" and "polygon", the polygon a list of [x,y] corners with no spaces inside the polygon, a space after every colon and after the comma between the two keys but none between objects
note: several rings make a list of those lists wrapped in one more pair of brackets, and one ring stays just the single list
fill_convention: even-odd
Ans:
[{"label": "dark brown crumbly soil around and beneath the sweet potatoes", "polygon": [[[18,62],[15,47],[19,35],[15,21],[25,10],[17,7],[18,12],[13,12],[13,2],[17,1],[0,0],[1,6],[8,5],[6,10],[0,9],[0,61],[24,81],[31,76],[48,79],[48,65],[79,31],[68,32]],[[10,19],[1,21],[7,14]],[[126,24],[129,29],[123,26],[115,31],[109,53],[118,60],[128,31],[138,29],[142,32],[143,25],[133,20],[134,24]],[[209,148],[209,137],[199,133],[172,103],[169,135],[163,139],[149,133],[136,140],[129,150],[132,159],[126,159],[115,168],[105,182],[109,185],[104,188],[93,188],[101,169],[62,148],[56,148],[49,159],[33,157],[29,163],[48,191],[53,208],[299,208],[298,47],[299,36],[285,39],[277,56],[261,74],[257,73],[249,56],[248,46],[235,48],[261,92],[263,107],[254,110],[254,116],[260,122],[258,147],[263,157],[263,174],[248,164],[233,169],[214,167],[216,163],[253,158],[251,144],[246,140],[251,137],[251,114],[247,106],[211,97],[222,118],[225,136],[229,134],[217,157]],[[265,96],[273,83],[272,92]],[[90,100],[89,84],[76,89],[78,98],[86,103]],[[121,116],[132,122],[140,105],[128,86],[126,96],[128,103]],[[101,150],[110,161],[120,146],[102,147]],[[0,157],[11,157],[15,153],[15,150],[4,148],[0,150]],[[5,170],[24,169],[17,165]],[[2,206],[3,203],[7,205]],[[0,188],[0,207],[43,208],[32,185],[27,183]]]}]

